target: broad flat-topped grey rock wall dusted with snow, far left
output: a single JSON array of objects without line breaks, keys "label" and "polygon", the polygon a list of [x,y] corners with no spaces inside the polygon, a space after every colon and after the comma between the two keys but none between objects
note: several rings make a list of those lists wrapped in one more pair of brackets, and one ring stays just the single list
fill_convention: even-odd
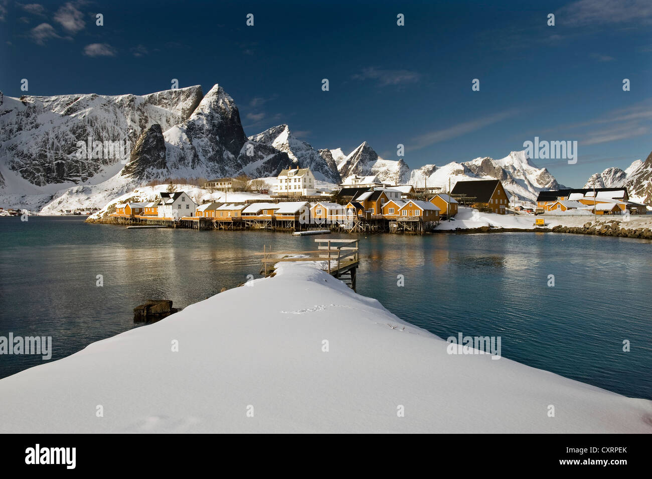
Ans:
[{"label": "broad flat-topped grey rock wall dusted with snow, far left", "polygon": [[82,182],[124,158],[80,156],[78,142],[110,142],[131,149],[143,130],[185,121],[203,96],[200,86],[136,96],[68,94],[3,98],[0,161],[25,180],[44,186]]}]

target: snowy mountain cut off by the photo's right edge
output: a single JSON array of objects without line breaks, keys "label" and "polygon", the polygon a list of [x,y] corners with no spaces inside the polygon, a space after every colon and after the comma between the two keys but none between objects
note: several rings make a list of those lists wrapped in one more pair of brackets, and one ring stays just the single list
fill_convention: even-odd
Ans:
[{"label": "snowy mountain cut off by the photo's right edge", "polygon": [[645,161],[636,160],[625,170],[611,167],[591,175],[584,188],[594,184],[596,188],[625,186],[632,201],[652,205],[652,152]]}]

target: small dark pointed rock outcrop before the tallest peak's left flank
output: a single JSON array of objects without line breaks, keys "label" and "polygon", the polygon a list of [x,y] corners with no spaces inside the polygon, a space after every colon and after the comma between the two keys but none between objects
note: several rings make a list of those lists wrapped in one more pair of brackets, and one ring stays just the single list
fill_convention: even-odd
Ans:
[{"label": "small dark pointed rock outcrop before the tallest peak's left flank", "polygon": [[153,124],[136,141],[130,161],[120,174],[142,181],[154,177],[156,171],[167,169],[163,130],[160,124]]}]

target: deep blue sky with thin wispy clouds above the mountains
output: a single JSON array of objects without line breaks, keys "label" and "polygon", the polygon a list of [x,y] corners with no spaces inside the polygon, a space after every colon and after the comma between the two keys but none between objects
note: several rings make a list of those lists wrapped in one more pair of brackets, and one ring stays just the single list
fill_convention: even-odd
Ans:
[{"label": "deep blue sky with thin wispy clouds above the mountains", "polygon": [[568,186],[652,151],[649,0],[29,1],[0,0],[9,96],[23,78],[35,95],[220,83],[248,135],[287,123],[316,149],[366,140],[391,160],[402,143],[411,167],[578,141],[574,165],[534,160]]}]

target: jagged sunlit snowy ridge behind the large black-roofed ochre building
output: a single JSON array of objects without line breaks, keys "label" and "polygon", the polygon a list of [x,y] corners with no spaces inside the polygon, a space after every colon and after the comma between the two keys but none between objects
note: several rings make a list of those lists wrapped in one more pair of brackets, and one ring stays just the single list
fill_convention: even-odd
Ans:
[{"label": "jagged sunlit snowy ridge behind the large black-roofed ochre building", "polygon": [[542,190],[563,188],[546,168],[539,168],[524,151],[512,151],[505,158],[475,158],[468,162],[452,162],[441,167],[426,165],[410,172],[409,182],[415,186],[440,186],[444,191],[460,180],[499,179],[505,190],[520,201],[535,202]]}]

